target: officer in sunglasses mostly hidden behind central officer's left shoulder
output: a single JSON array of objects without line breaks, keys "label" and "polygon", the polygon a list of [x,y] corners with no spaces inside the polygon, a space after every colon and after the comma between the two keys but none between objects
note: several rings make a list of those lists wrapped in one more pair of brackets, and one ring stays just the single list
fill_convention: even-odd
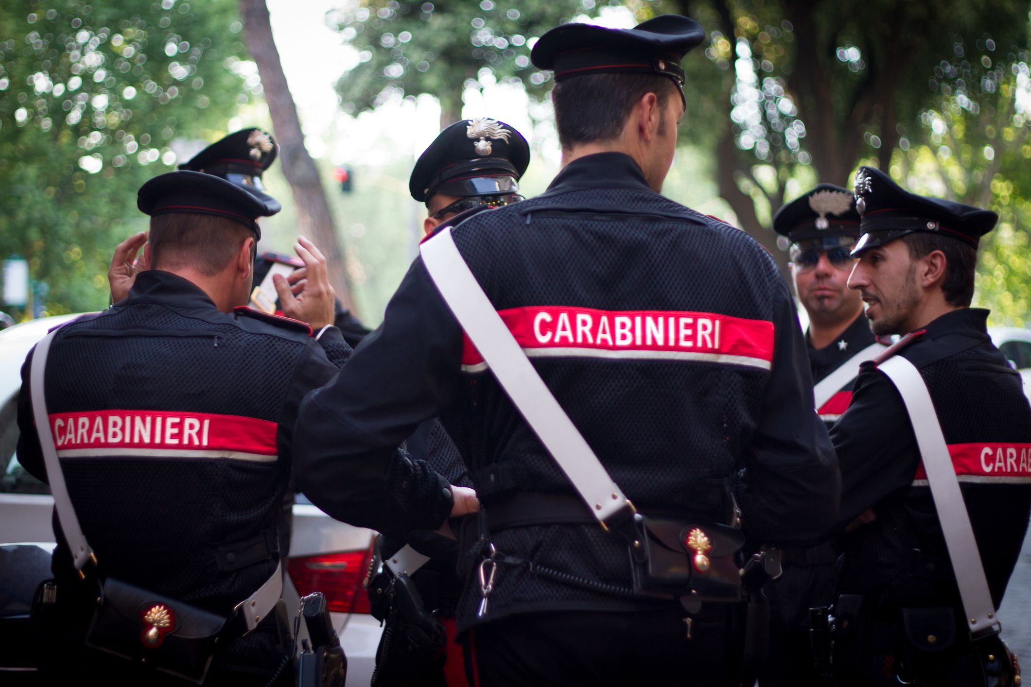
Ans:
[{"label": "officer in sunglasses mostly hidden behind central officer's left shoulder", "polygon": [[[522,200],[519,180],[529,164],[530,145],[519,131],[503,122],[476,117],[444,129],[419,157],[408,181],[411,197],[426,203],[426,234],[431,235],[443,222],[452,225],[476,212]],[[421,423],[405,440],[405,447],[412,457],[425,459],[450,483],[472,486],[458,447],[439,420]],[[458,545],[454,537],[430,530],[384,535],[380,552],[386,561],[399,550],[411,548],[430,556],[410,579],[424,610],[436,611],[442,621],[446,644],[430,660],[412,660],[414,652],[397,637],[405,631],[401,626],[405,620],[389,619],[376,655],[374,684],[467,684],[462,649],[455,642],[455,611],[462,580],[455,575]],[[369,587],[374,613],[378,612],[376,600],[384,593],[385,583],[387,580],[380,578]],[[395,600],[394,606],[404,605]]]}]

